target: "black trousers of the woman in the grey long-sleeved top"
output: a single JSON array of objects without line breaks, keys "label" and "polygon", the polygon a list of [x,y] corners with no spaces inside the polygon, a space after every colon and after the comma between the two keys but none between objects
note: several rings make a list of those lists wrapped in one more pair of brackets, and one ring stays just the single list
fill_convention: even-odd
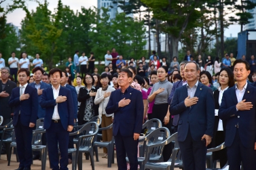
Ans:
[{"label": "black trousers of the woman in the grey long-sleeved top", "polygon": [[[152,117],[151,119],[159,119],[162,122],[162,127],[166,127],[170,131],[170,135],[172,134],[172,123],[171,121],[167,124],[164,125],[164,117],[166,116],[166,113],[168,111],[168,104],[154,104],[153,105],[153,110],[152,110]],[[170,120],[170,119],[169,119]],[[172,142],[164,146],[163,150],[163,157],[164,157],[164,162],[168,161],[170,158],[170,155],[172,154]]]}]

